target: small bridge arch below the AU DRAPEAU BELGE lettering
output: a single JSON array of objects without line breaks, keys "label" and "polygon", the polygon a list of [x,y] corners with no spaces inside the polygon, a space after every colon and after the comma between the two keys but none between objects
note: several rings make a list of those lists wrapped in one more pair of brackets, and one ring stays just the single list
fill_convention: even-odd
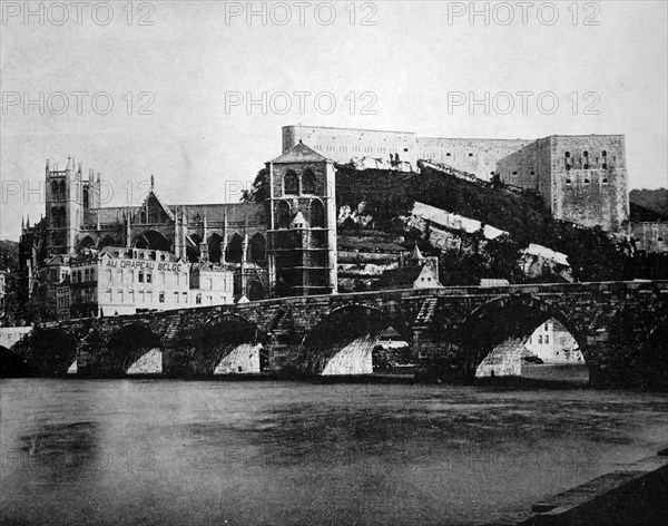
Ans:
[{"label": "small bridge arch below the AU DRAPEAU BELGE lettering", "polygon": [[[160,338],[145,323],[127,323],[116,329],[107,339],[107,352],[99,357],[98,369],[102,376],[119,377],[128,373],[161,373]],[[149,353],[155,355],[149,357]],[[146,366],[138,364],[146,360]],[[139,366],[137,371],[131,369]]]}]

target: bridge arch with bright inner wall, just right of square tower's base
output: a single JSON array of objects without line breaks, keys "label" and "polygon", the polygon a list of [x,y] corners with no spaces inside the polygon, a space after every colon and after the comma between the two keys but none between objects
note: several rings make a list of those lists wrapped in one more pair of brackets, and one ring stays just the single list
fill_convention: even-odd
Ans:
[{"label": "bridge arch with bright inner wall, just right of square tower's base", "polygon": [[310,374],[371,374],[380,338],[393,328],[405,341],[404,321],[374,305],[351,303],[323,315],[301,344],[304,370]]}]

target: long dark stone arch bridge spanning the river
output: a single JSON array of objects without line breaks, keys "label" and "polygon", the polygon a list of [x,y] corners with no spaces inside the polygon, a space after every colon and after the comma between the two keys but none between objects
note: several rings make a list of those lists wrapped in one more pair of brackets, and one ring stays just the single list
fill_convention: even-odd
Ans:
[{"label": "long dark stone arch bridge spanning the river", "polygon": [[461,380],[550,318],[578,341],[592,382],[667,383],[668,281],[404,289],[47,322],[11,353],[30,374],[65,374],[76,360],[78,374],[108,377],[159,349],[161,374],[206,377],[253,343],[263,371],[320,373],[346,344],[392,327],[420,376]]}]

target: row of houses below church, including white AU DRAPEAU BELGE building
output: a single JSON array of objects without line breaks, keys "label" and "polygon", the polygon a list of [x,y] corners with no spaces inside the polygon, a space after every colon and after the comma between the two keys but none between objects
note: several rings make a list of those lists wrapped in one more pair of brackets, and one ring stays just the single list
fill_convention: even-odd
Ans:
[{"label": "row of houses below church, including white AU DRAPEAU BELGE building", "polygon": [[39,274],[33,296],[56,320],[234,302],[230,269],[188,263],[166,251],[106,246],[72,257],[59,254]]}]

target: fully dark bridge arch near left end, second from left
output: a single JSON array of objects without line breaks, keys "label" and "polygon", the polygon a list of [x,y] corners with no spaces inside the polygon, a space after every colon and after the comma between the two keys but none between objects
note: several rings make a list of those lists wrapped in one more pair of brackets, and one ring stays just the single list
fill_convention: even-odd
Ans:
[{"label": "fully dark bridge arch near left end, second from left", "polygon": [[26,339],[26,345],[32,376],[66,376],[77,359],[77,339],[63,329],[36,328]]}]

